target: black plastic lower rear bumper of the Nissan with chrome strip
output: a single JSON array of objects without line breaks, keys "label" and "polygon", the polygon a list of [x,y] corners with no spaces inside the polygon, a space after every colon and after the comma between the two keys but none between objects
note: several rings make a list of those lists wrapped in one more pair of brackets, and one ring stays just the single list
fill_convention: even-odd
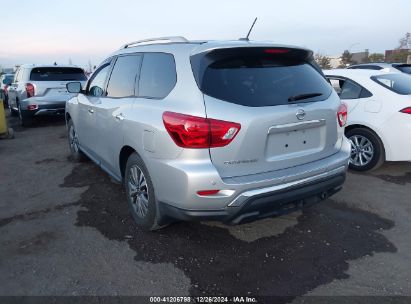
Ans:
[{"label": "black plastic lower rear bumper of the Nissan with chrome strip", "polygon": [[344,166],[310,179],[246,191],[222,210],[186,210],[159,203],[160,214],[165,221],[167,218],[184,221],[218,220],[227,224],[280,216],[316,204],[337,193],[342,189],[345,176]]}]

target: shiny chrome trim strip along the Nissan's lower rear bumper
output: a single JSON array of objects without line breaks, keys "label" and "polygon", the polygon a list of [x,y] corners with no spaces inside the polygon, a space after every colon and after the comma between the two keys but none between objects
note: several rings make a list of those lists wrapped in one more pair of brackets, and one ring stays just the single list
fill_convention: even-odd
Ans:
[{"label": "shiny chrome trim strip along the Nissan's lower rear bumper", "polygon": [[238,195],[231,203],[228,204],[228,207],[239,207],[241,206],[247,199],[250,197],[264,194],[264,193],[269,193],[269,192],[275,192],[275,191],[280,191],[280,190],[286,190],[288,188],[292,188],[295,186],[300,186],[304,184],[308,184],[310,182],[316,181],[318,179],[323,179],[326,177],[330,177],[333,175],[338,175],[339,173],[343,173],[346,171],[346,166],[338,167],[337,169],[331,170],[329,172],[321,173],[315,176],[310,176],[304,179],[296,180],[293,182],[289,182],[286,184],[281,184],[281,185],[276,185],[276,186],[271,186],[267,188],[260,188],[260,189],[255,189],[255,190],[249,190],[246,192],[241,193]]}]

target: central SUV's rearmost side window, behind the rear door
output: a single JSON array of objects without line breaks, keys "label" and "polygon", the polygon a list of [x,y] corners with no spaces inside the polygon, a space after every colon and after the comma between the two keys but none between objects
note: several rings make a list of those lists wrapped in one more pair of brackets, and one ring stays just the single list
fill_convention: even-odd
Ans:
[{"label": "central SUV's rearmost side window, behind the rear door", "polygon": [[174,57],[166,53],[145,53],[141,65],[138,95],[162,99],[174,88],[177,72]]}]

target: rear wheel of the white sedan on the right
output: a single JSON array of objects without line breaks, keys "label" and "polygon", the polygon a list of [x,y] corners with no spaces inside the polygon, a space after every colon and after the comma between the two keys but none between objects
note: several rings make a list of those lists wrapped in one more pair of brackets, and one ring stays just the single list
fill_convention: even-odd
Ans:
[{"label": "rear wheel of the white sedan on the right", "polygon": [[373,131],[356,128],[346,132],[351,143],[350,169],[355,171],[376,170],[385,161],[384,145]]}]

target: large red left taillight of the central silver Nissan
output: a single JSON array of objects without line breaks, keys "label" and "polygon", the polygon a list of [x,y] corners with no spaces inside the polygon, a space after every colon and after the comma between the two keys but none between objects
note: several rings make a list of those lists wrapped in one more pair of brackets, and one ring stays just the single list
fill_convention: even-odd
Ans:
[{"label": "large red left taillight of the central silver Nissan", "polygon": [[193,149],[224,147],[241,129],[238,123],[174,112],[164,112],[163,122],[177,146]]}]

